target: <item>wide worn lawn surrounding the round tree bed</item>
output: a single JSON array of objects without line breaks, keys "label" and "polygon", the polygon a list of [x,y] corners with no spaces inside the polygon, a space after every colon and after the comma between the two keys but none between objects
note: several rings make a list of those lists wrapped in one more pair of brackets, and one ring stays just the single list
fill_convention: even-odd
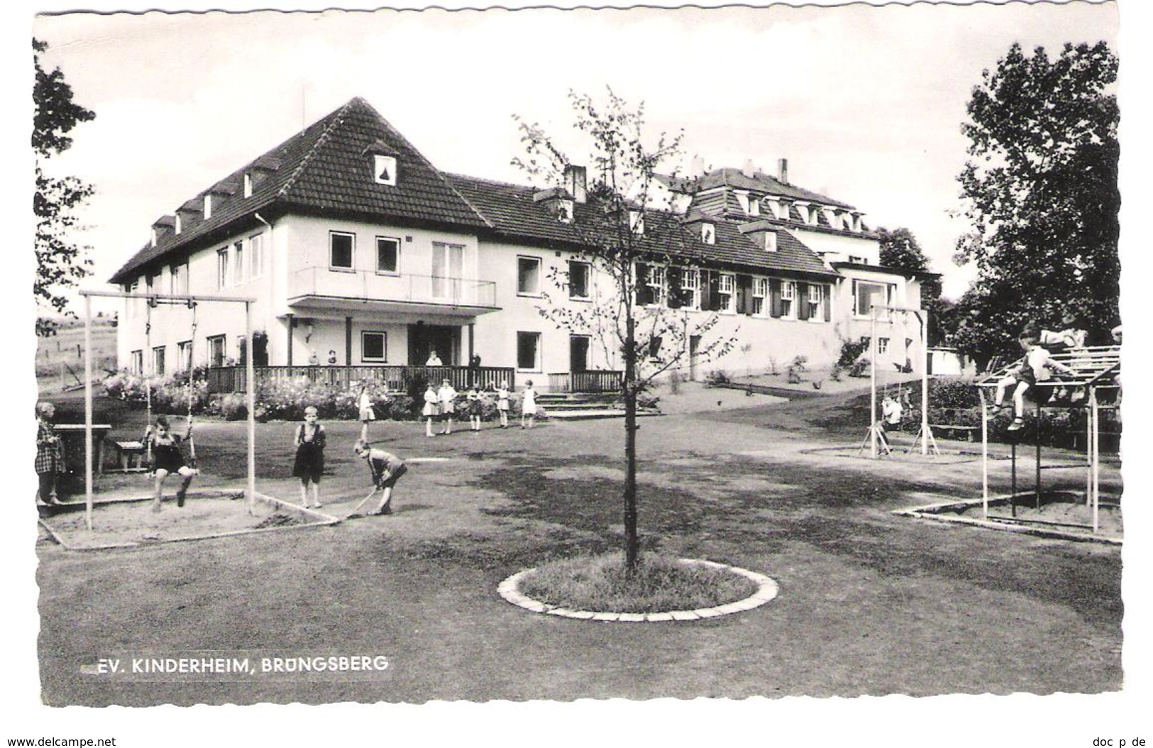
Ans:
[{"label": "wide worn lawn surrounding the round tree bed", "polygon": [[[677,415],[645,420],[639,435],[643,545],[767,574],[781,589],[767,605],[642,625],[514,607],[496,591],[510,574],[620,546],[621,422],[434,439],[414,423],[376,423],[385,448],[443,459],[412,463],[392,516],[130,551],[38,543],[43,697],[149,705],[1121,688],[1120,549],[894,516],[926,497],[979,496],[980,463],[813,452],[859,443],[864,429],[851,420],[829,425],[846,398],[783,403],[691,387],[676,398]],[[359,428],[327,424],[322,500],[338,516],[369,486],[352,454]],[[257,428],[258,490],[282,499],[296,491],[292,433],[293,424]],[[205,484],[242,482],[243,435],[242,423],[197,429]],[[1007,481],[1008,466],[994,470]],[[1116,491],[1120,475],[1107,468],[1102,481]],[[382,653],[390,667],[352,681],[88,672],[118,652],[205,650]]]}]

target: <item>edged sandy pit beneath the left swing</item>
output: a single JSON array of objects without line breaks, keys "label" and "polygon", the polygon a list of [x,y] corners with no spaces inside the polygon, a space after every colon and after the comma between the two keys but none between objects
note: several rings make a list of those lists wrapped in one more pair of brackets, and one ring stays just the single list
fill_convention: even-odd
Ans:
[{"label": "edged sandy pit beneath the left swing", "polygon": [[189,492],[184,506],[167,497],[160,512],[151,497],[105,499],[92,505],[88,529],[83,504],[63,505],[40,526],[66,549],[138,547],[156,543],[231,537],[339,522],[334,516],[256,494],[249,507],[242,491]]}]

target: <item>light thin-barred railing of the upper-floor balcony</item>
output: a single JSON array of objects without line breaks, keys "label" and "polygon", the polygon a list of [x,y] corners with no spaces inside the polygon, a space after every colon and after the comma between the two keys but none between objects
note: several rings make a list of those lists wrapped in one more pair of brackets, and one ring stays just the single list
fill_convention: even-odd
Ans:
[{"label": "light thin-barred railing of the upper-floor balcony", "polygon": [[288,297],[336,296],[357,301],[400,301],[452,307],[496,307],[491,280],[304,267],[288,277]]}]

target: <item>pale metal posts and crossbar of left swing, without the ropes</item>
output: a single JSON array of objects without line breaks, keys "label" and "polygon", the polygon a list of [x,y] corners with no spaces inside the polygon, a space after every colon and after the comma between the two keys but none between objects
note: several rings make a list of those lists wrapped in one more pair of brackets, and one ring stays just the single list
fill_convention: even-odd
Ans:
[{"label": "pale metal posts and crossbar of left swing, without the ropes", "polygon": [[[84,501],[85,520],[88,529],[92,529],[92,296],[111,299],[143,299],[148,308],[151,309],[158,301],[184,302],[195,307],[202,301],[220,301],[244,304],[244,340],[246,340],[246,372],[248,375],[248,484],[246,489],[248,499],[248,511],[253,512],[256,501],[256,378],[253,368],[253,304],[256,300],[250,296],[223,296],[217,294],[128,294],[120,290],[96,290],[82,289],[80,295],[84,299]],[[151,312],[149,312],[148,324],[151,326]],[[145,331],[150,334],[150,331]],[[149,341],[151,342],[151,341]],[[193,341],[195,343],[195,340]],[[189,380],[191,380],[191,364],[195,358],[194,350],[189,350]],[[151,394],[151,393],[150,393]]]}]

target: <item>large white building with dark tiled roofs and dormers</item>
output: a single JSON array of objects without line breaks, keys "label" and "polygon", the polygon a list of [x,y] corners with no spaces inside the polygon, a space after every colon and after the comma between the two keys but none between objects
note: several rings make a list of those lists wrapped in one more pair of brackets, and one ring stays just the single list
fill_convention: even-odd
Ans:
[{"label": "large white building with dark tiled roofs and dormers", "polygon": [[[781,167],[718,169],[691,189],[664,179],[694,262],[639,266],[639,301],[719,313],[713,333],[737,338],[758,368],[798,355],[831,363],[843,341],[871,334],[872,305],[919,307],[921,278],[882,267],[859,211],[790,184]],[[557,303],[553,270],[571,279],[560,303],[595,303],[596,272],[579,262],[583,196],[581,168],[549,190],[439,172],[356,98],[161,217],[111,281],[255,299],[258,367],[334,352],[362,377],[436,350],[449,367],[476,354],[505,369],[492,377],[562,388],[571,372],[619,368],[611,347],[538,311],[545,294]],[[121,365],[167,373],[241,360],[241,307],[202,302],[193,317],[128,300]],[[882,316],[876,337],[882,365],[919,362],[912,316]]]}]

